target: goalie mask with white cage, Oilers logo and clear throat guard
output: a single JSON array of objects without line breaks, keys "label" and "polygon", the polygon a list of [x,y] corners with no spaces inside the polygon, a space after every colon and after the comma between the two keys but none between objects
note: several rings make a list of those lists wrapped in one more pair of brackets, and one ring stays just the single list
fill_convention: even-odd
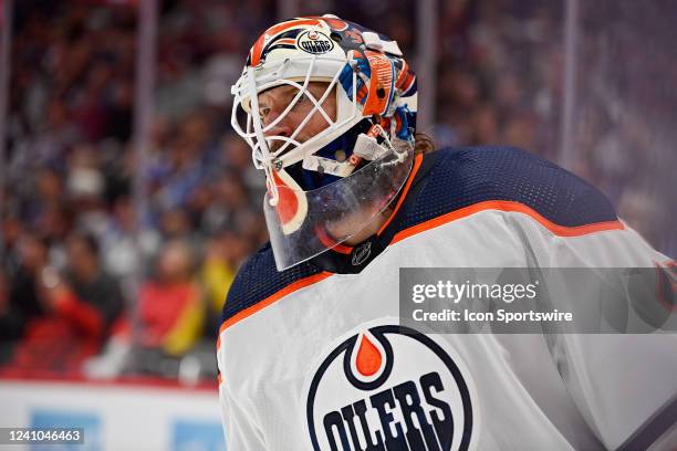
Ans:
[{"label": "goalie mask with white cage, Oilers logo and clear throat guard", "polygon": [[[273,90],[289,101],[271,114]],[[410,172],[416,76],[382,34],[334,15],[279,23],[251,48],[232,94],[232,126],[265,172],[279,270],[358,233]]]}]

